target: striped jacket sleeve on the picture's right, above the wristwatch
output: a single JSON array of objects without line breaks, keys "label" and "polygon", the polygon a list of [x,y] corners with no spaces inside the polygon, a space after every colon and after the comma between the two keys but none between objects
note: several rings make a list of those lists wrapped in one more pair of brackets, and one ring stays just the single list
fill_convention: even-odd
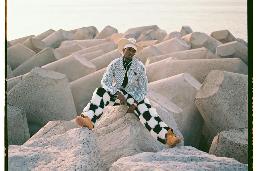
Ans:
[{"label": "striped jacket sleeve on the picture's right, above the wristwatch", "polygon": [[138,89],[138,94],[135,98],[135,101],[137,101],[138,103],[144,100],[145,96],[148,93],[147,83],[148,83],[148,80],[146,77],[145,67],[142,66],[142,70],[139,72],[139,76],[137,79],[137,84],[139,86],[139,89]]}]

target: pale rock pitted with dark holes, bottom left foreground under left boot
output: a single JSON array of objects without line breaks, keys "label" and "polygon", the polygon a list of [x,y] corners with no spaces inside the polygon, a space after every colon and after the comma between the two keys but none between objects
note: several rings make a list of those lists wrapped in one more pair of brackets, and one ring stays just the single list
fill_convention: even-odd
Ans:
[{"label": "pale rock pitted with dark holes, bottom left foreground under left boot", "polygon": [[106,168],[95,136],[88,128],[8,147],[8,170],[94,170]]}]

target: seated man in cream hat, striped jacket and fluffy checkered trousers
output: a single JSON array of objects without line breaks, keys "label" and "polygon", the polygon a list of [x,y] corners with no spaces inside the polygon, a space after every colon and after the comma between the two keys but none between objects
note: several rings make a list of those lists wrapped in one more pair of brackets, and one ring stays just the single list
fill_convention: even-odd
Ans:
[{"label": "seated man in cream hat, striped jacket and fluffy checkered trousers", "polygon": [[94,91],[81,116],[76,118],[77,125],[92,130],[105,106],[127,105],[127,113],[134,112],[155,139],[168,144],[169,148],[175,147],[181,143],[181,138],[174,135],[173,130],[160,119],[149,100],[145,98],[148,92],[145,67],[134,58],[143,47],[137,45],[134,38],[122,38],[118,42],[118,48],[123,56],[108,65],[101,80],[103,87]]}]

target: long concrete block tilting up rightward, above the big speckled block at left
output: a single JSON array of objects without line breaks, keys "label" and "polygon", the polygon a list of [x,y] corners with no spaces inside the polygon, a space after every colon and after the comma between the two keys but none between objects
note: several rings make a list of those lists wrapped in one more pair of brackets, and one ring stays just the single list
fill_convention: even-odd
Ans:
[{"label": "long concrete block tilting up rightward, above the big speckled block at left", "polygon": [[25,61],[23,64],[13,70],[13,76],[19,76],[30,72],[35,67],[41,67],[56,60],[61,59],[62,56],[53,48],[44,48],[39,53],[35,54],[33,58]]}]

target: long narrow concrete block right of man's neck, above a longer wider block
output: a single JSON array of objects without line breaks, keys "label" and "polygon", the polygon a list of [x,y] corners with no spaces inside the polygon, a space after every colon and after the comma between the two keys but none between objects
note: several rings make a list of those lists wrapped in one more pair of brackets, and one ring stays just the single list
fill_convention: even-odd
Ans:
[{"label": "long narrow concrete block right of man's neck, above a longer wider block", "polygon": [[197,49],[190,49],[190,50],[183,50],[179,52],[173,52],[170,54],[164,54],[159,56],[153,56],[147,58],[145,65],[152,64],[154,62],[167,59],[169,57],[174,57],[179,60],[185,59],[212,59],[215,58],[215,55],[207,50],[206,48],[197,48]]}]

